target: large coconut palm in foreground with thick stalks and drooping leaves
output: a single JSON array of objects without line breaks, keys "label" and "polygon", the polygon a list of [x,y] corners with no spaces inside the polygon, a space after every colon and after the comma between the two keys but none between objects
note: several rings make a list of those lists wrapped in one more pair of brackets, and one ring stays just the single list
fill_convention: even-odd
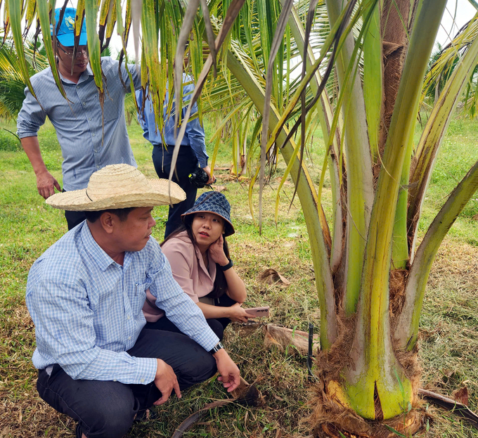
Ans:
[{"label": "large coconut palm in foreground with thick stalks and drooping leaves", "polygon": [[[12,28],[18,39],[18,8],[11,20],[11,1],[4,6],[6,34]],[[25,13],[29,23],[34,19],[31,1]],[[100,26],[108,44],[114,27],[110,20],[116,20],[124,52],[129,27],[136,32],[137,45],[140,25],[148,27],[143,30],[141,63],[146,68],[141,69],[142,84],[155,96],[158,124],[162,123],[159,108],[166,82],[174,75],[181,77],[184,46],[193,35],[188,53],[190,72],[198,85],[179,126],[177,143],[181,142],[190,108],[204,89],[199,117],[203,109],[225,115],[214,135],[217,148],[220,133],[230,125],[237,161],[238,144],[247,138],[247,129],[252,129],[247,150],[247,162],[255,166],[250,169],[252,183],[261,173],[260,156],[279,152],[283,156],[285,177],[292,176],[304,212],[321,307],[316,436],[346,433],[373,437],[378,432],[387,436],[390,427],[405,435],[412,433],[421,415],[411,407],[415,406],[415,356],[429,269],[446,232],[478,187],[477,162],[432,221],[415,254],[413,243],[422,200],[439,145],[453,109],[476,74],[478,37],[472,32],[474,22],[463,30],[467,37],[460,34],[454,43],[453,69],[445,61],[432,68],[435,77],[440,75],[441,66],[446,66],[448,73],[441,76],[443,91],[418,147],[413,148],[432,36],[437,33],[445,0],[325,0],[326,13],[324,2],[316,5],[315,1],[299,4],[301,13],[286,2],[288,6],[283,8],[278,0],[226,3],[212,0],[206,7],[202,1],[200,9],[211,13],[210,19],[204,20],[197,15],[199,1],[190,2],[193,12],[186,12],[177,0],[131,1],[126,2],[125,9],[122,2],[110,0],[103,2]],[[37,0],[36,5],[34,11],[48,39],[51,2]],[[92,63],[98,63],[99,49],[95,48],[100,38],[93,34],[97,32],[98,2],[85,0],[84,9]],[[275,20],[282,12],[278,23]],[[82,20],[82,14],[77,20]],[[186,25],[181,30],[183,22]],[[389,22],[394,26],[389,27]],[[213,53],[207,49],[212,41],[209,25],[217,33]],[[164,63],[170,53],[176,53],[175,66]],[[306,65],[300,77],[291,80],[285,75],[290,75],[291,61],[298,56]],[[396,56],[396,77],[389,76],[384,56],[389,64]],[[209,72],[216,67],[215,57],[219,68],[214,79]],[[101,91],[101,71],[93,71]],[[176,97],[181,96],[181,84],[177,82],[173,88],[178,91]],[[267,111],[269,120],[264,117]],[[306,139],[318,124],[325,150],[321,181],[316,187],[303,157]],[[292,135],[299,127],[296,143]],[[259,141],[265,144],[260,154]],[[335,208],[332,234],[321,207],[327,168]],[[252,190],[251,185],[250,193]],[[397,277],[402,281],[395,282]],[[399,420],[390,423],[397,417]],[[380,420],[387,420],[389,429]]]}]

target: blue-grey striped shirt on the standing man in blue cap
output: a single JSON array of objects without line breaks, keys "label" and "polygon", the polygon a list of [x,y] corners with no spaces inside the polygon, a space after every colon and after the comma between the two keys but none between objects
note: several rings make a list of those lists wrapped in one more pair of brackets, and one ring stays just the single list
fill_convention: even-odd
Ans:
[{"label": "blue-grey striped shirt on the standing man in blue cap", "polygon": [[[126,163],[136,167],[124,120],[124,96],[131,91],[124,64],[118,74],[118,61],[101,58],[105,79],[104,132],[98,89],[90,65],[77,84],[62,77],[67,98],[60,94],[51,67],[32,76],[37,99],[25,88],[25,100],[18,114],[17,133],[20,139],[37,136],[46,116],[56,129],[63,155],[63,188],[79,190],[88,186],[93,172],[106,165]],[[141,88],[141,75],[129,65],[135,89]],[[104,134],[104,141],[103,141]]]}]

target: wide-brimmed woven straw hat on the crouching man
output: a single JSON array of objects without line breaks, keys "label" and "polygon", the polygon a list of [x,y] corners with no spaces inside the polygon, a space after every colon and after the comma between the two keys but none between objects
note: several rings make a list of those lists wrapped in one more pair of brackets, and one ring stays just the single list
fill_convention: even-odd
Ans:
[{"label": "wide-brimmed woven straw hat on the crouching man", "polygon": [[56,193],[46,200],[53,208],[70,211],[99,211],[128,207],[177,204],[186,193],[167,179],[146,179],[130,165],[110,165],[91,175],[88,187]]}]

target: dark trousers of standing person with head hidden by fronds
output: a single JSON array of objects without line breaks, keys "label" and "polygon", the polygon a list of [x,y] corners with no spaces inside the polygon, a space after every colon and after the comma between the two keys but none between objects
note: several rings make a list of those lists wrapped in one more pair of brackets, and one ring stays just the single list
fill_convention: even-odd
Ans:
[{"label": "dark trousers of standing person with head hidden by fronds", "polygon": [[[155,166],[157,176],[160,178],[169,178],[173,151],[174,146],[167,146],[166,149],[162,145],[155,145],[153,148],[153,165]],[[186,192],[186,200],[169,207],[164,238],[167,238],[169,234],[182,224],[181,214],[194,205],[198,188],[190,183],[189,174],[194,172],[195,169],[198,169],[198,158],[196,158],[193,149],[190,146],[181,146],[172,180]]]}]

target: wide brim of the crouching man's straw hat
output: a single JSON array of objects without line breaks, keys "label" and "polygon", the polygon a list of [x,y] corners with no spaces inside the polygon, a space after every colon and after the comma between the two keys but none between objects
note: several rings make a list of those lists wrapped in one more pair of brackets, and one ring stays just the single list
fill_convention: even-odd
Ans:
[{"label": "wide brim of the crouching man's straw hat", "polygon": [[177,204],[186,199],[186,193],[183,189],[173,182],[171,182],[171,196],[169,196],[169,181],[167,179],[149,179],[148,190],[141,193],[119,194],[98,200],[91,200],[86,192],[87,189],[56,193],[50,196],[46,203],[60,210],[95,212],[118,208]]}]

